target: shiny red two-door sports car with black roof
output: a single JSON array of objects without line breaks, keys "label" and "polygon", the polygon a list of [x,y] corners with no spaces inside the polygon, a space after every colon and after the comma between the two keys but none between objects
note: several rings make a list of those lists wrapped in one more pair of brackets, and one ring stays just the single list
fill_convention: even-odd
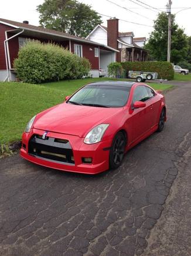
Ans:
[{"label": "shiny red two-door sports car with black roof", "polygon": [[125,152],[166,121],[165,98],[146,84],[85,85],[30,119],[21,156],[45,167],[97,174],[121,165]]}]

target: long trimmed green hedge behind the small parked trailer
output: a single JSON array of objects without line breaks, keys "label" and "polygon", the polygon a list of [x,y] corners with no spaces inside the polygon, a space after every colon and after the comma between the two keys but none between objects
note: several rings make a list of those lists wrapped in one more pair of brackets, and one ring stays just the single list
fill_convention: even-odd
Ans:
[{"label": "long trimmed green hedge behind the small parked trailer", "polygon": [[122,67],[128,71],[157,72],[158,79],[172,80],[174,71],[172,64],[167,61],[121,62]]}]

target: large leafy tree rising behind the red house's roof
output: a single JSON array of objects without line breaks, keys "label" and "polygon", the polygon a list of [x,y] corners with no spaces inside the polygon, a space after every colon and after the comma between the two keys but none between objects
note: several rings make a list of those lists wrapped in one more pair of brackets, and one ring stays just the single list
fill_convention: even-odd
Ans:
[{"label": "large leafy tree rising behind the red house's roof", "polygon": [[76,0],[45,0],[37,6],[40,25],[71,35],[86,37],[101,24],[101,16],[90,5]]}]

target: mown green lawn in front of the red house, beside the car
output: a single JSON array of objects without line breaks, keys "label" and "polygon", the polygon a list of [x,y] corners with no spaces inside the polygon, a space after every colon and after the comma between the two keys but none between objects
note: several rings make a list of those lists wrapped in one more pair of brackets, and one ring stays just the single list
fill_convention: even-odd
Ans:
[{"label": "mown green lawn in front of the red house, beside the car", "polygon": [[[66,95],[71,95],[84,84],[106,79],[79,79],[43,85],[0,82],[0,145],[20,140],[27,122],[38,112],[63,102]],[[166,84],[149,85],[161,90],[172,87]]]}]

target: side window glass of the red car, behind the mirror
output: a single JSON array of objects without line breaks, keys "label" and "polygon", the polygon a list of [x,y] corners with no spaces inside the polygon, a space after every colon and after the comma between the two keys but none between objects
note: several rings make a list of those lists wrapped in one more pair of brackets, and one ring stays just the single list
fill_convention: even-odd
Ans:
[{"label": "side window glass of the red car, behind the mirror", "polygon": [[154,97],[155,92],[149,87],[144,85],[138,86],[134,91],[133,102],[135,101],[147,101],[148,99]]}]

